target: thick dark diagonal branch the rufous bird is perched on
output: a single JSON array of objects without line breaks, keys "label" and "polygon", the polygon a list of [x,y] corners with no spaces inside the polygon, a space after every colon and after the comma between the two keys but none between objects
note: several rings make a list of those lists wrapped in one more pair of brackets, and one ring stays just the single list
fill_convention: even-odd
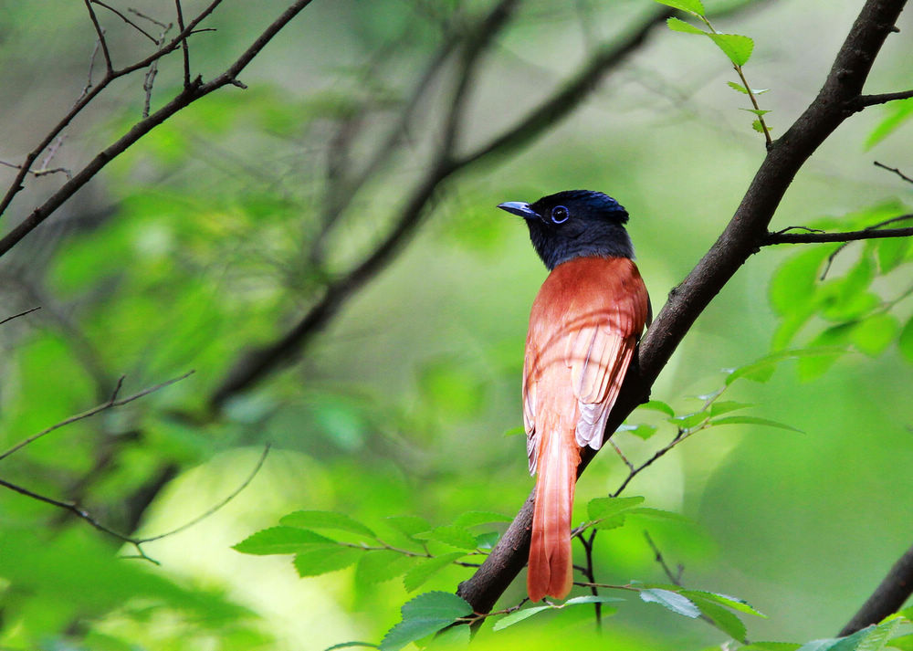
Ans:
[{"label": "thick dark diagonal branch the rufous bird is perched on", "polygon": [[[782,138],[774,141],[729,225],[687,278],[669,294],[666,305],[646,332],[637,364],[625,377],[614,405],[606,436],[622,424],[637,404],[645,401],[656,377],[678,343],[710,300],[758,250],[767,236],[783,194],[803,163],[852,114],[846,110],[862,92],[869,70],[887,36],[895,29],[905,0],[867,0],[824,80],[824,86]],[[593,459],[582,450],[582,472]],[[487,613],[526,562],[530,545],[532,495],[488,558],[457,593],[473,610]]]}]

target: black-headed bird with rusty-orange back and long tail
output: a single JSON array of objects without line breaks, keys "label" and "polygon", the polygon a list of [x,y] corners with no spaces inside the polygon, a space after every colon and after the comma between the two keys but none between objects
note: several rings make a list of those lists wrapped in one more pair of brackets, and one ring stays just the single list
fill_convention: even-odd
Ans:
[{"label": "black-headed bird with rusty-orange back and long tail", "polygon": [[530,312],[523,358],[523,425],[537,475],[527,593],[563,599],[572,588],[571,512],[582,448],[598,450],[650,299],[608,194],[569,190],[498,208],[522,217],[549,275]]}]

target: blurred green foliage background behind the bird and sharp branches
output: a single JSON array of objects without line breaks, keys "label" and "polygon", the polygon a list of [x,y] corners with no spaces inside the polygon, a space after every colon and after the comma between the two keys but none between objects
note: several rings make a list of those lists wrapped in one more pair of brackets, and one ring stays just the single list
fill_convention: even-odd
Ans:
[{"label": "blurred green foliage background behind the bird and sharp branches", "polygon": [[[144,547],[158,566],[114,560],[134,550],[60,509],[0,492],[0,644],[377,642],[410,596],[398,580],[361,583],[352,568],[299,579],[289,557],[231,546],[296,509],[338,510],[379,530],[396,515],[444,524],[467,510],[516,512],[532,480],[521,438],[505,433],[521,425],[526,320],[545,270],[519,219],[494,206],[572,188],[612,194],[631,215],[658,310],[729,220],[764,146],[740,110],[747,98],[727,87],[736,78],[726,58],[708,39],[668,31],[655,18],[663,7],[646,0],[518,3],[455,100],[466,43],[485,35],[479,26],[495,4],[317,0],[244,71],[247,89],[222,89],[156,128],[0,261],[0,318],[41,307],[0,327],[5,447],[103,403],[121,375],[126,396],[195,370],[5,459],[6,481],[152,536],[225,499],[262,446],[273,446],[224,509]],[[110,5],[174,20],[172,3]],[[204,5],[185,0],[184,12]],[[708,0],[720,31],[755,40],[746,74],[752,87],[770,89],[760,97],[774,137],[813,99],[860,5]],[[191,41],[194,72],[211,79],[285,6],[226,0],[205,22],[217,31]],[[118,16],[95,9],[116,63],[152,51]],[[162,31],[130,16],[153,36]],[[871,92],[909,87],[909,15],[900,27]],[[585,91],[558,101],[543,124],[473,160],[641,29],[642,43],[605,57]],[[81,3],[0,2],[0,160],[20,163],[79,97],[95,41]],[[96,59],[95,79],[102,68]],[[180,55],[163,58],[152,110],[181,79]],[[141,72],[113,84],[68,127],[48,166],[78,170],[119,137],[140,117],[142,83]],[[436,178],[455,106],[445,158],[466,164]],[[872,164],[913,172],[909,124],[869,142],[891,110],[847,121],[796,178],[773,228],[822,217],[834,229],[854,226],[887,202],[905,212],[913,187]],[[4,187],[14,173],[0,168]],[[0,228],[64,180],[29,178]],[[383,259],[353,277],[397,224],[403,232]],[[866,251],[847,247],[834,275]],[[797,252],[767,248],[750,259],[689,333],[654,398],[685,414],[722,386],[722,369],[771,351],[782,327],[771,277]],[[872,275],[882,300],[911,282],[902,265]],[[226,382],[315,305],[330,305],[319,328],[274,351],[256,382]],[[901,300],[885,310],[896,331],[884,345],[835,341],[855,352],[817,372],[785,362],[768,383],[733,384],[728,398],[754,404],[751,415],[803,433],[730,425],[679,446],[625,494],[691,523],[637,520],[603,533],[600,578],[666,581],[647,529],[666,561],[684,566],[688,587],[737,595],[769,615],[748,622],[750,639],[834,635],[913,538],[911,368],[893,343],[910,307]],[[790,345],[815,341],[822,322]],[[654,416],[638,412],[632,422]],[[615,440],[645,458],[673,435],[667,426],[646,441]],[[613,491],[624,474],[611,451],[600,455],[579,484],[579,519],[586,500]],[[423,590],[453,591],[468,572],[447,569]],[[522,594],[518,582],[503,604]],[[565,643],[588,635],[592,612],[543,616],[483,639],[545,648],[552,628]],[[698,649],[724,639],[632,597],[606,621],[604,647]]]}]

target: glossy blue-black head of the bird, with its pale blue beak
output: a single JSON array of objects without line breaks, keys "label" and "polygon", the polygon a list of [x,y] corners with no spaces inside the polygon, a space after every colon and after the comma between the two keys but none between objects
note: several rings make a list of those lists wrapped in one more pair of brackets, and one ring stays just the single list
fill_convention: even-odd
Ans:
[{"label": "glossy blue-black head of the bird, with its pale blue beak", "polygon": [[634,257],[624,230],[627,211],[608,194],[567,190],[534,204],[509,201],[498,208],[526,220],[532,246],[550,269],[574,257]]}]

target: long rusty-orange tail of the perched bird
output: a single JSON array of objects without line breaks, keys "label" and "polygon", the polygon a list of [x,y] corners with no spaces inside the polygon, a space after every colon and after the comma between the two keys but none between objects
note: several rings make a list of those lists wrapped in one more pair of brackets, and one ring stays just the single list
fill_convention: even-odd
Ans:
[{"label": "long rusty-orange tail of the perched bird", "polygon": [[532,512],[530,568],[526,588],[530,600],[571,592],[571,509],[580,448],[558,432],[545,435],[539,457],[536,504]]}]

